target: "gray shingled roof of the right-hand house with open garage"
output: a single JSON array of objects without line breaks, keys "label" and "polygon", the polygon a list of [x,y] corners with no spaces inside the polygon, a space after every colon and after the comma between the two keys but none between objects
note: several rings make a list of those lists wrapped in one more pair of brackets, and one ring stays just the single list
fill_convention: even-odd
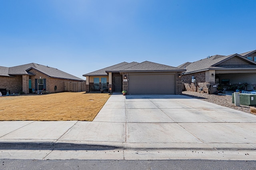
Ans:
[{"label": "gray shingled roof of the right-hand house with open garage", "polygon": [[[253,66],[249,66],[250,68],[256,68],[255,63],[253,61],[250,61],[244,57],[242,57],[239,54],[232,54],[232,55],[228,55],[228,56],[223,56],[223,55],[214,55],[212,57],[206,58],[206,59],[202,59],[199,61],[195,61],[191,64],[189,64],[186,67],[186,72],[184,72],[184,74],[188,74],[188,73],[192,73],[192,72],[200,72],[200,71],[205,71],[205,70],[209,70],[209,69],[223,69],[223,68],[232,68],[232,66],[217,66],[218,64],[232,58],[232,57],[240,57],[241,60],[243,61],[247,61],[250,64],[253,64]],[[239,65],[239,66],[234,66],[234,68],[249,68],[246,65]]]}]

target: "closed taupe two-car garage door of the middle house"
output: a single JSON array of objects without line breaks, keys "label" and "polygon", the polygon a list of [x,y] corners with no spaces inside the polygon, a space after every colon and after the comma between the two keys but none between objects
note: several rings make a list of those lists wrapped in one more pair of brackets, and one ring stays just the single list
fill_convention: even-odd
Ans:
[{"label": "closed taupe two-car garage door of the middle house", "polygon": [[129,94],[175,94],[175,74],[129,73]]}]

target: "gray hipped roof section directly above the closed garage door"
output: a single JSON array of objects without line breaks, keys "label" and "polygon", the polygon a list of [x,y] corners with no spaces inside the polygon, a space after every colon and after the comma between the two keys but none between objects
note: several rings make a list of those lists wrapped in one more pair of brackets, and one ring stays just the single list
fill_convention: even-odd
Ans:
[{"label": "gray hipped roof section directly above the closed garage door", "polygon": [[164,64],[153,63],[150,61],[144,61],[135,66],[120,70],[120,72],[174,72],[174,71],[185,71],[184,69],[168,66]]}]

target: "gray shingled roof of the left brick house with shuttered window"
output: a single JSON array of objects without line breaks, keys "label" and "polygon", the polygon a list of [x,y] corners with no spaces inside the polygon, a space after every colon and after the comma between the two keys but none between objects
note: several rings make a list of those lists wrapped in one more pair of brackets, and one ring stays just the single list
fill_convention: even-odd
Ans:
[{"label": "gray shingled roof of the left brick house with shuttered window", "polygon": [[[46,74],[49,77],[52,78],[63,78],[63,79],[69,79],[69,80],[83,80],[82,78],[78,78],[76,76],[73,76],[71,74],[68,74],[66,72],[63,72],[61,70],[58,70],[57,68],[52,68],[36,63],[30,63],[30,64],[24,64],[20,66],[14,66],[8,68],[8,76],[12,75],[32,75],[31,72],[29,72],[32,68]],[[2,75],[2,71],[1,71]]]}]

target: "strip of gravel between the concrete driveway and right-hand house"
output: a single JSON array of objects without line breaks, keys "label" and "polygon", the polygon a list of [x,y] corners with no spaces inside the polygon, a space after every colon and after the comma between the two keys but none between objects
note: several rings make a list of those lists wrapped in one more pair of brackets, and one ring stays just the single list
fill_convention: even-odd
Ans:
[{"label": "strip of gravel between the concrete driveway and right-hand house", "polygon": [[250,106],[244,106],[244,105],[235,106],[235,104],[232,103],[232,96],[229,96],[226,94],[215,95],[215,94],[184,91],[182,92],[182,95],[250,113]]}]

